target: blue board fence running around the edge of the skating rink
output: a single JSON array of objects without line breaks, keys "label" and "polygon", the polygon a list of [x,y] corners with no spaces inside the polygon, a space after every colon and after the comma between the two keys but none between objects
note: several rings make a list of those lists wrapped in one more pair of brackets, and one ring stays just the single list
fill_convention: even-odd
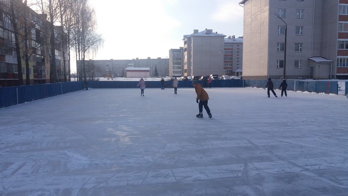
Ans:
[{"label": "blue board fence running around the edge of the skating rink", "polygon": [[[272,80],[274,88],[280,86],[281,80]],[[138,81],[89,81],[88,88],[137,88]],[[202,81],[199,81],[202,83]],[[338,94],[337,81],[287,80],[287,90],[308,91],[326,94]],[[161,88],[160,81],[145,81],[146,88]],[[165,87],[171,88],[173,82],[165,81]],[[211,87],[257,87],[264,88],[267,80],[213,80]],[[203,84],[202,84],[203,86]],[[346,87],[348,82],[346,82]],[[0,108],[19,103],[62,95],[83,90],[84,82],[66,82],[18,87],[0,88]],[[179,88],[192,88],[192,81],[179,81]],[[348,94],[348,88],[345,90]]]}]

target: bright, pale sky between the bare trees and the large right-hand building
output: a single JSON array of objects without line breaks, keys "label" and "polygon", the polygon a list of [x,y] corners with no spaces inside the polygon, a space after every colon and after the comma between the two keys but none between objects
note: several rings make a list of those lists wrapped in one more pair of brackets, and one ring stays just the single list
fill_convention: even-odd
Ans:
[{"label": "bright, pale sky between the bare trees and the large right-hand building", "polygon": [[183,35],[213,29],[243,36],[241,0],[89,0],[103,47],[89,59],[166,58]]}]

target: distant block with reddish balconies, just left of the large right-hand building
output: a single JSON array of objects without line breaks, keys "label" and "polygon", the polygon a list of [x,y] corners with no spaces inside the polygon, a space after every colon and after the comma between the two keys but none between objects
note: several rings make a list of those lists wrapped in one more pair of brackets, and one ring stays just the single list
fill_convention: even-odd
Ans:
[{"label": "distant block with reddish balconies, just left of the large right-hand building", "polygon": [[243,72],[243,38],[228,36],[224,44],[224,75],[241,76]]}]

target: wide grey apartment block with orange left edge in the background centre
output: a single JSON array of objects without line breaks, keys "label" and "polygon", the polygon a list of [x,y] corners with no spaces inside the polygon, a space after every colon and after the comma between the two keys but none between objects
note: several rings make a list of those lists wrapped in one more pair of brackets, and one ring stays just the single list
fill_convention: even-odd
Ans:
[{"label": "wide grey apartment block with orange left edge in the background centre", "polygon": [[226,35],[205,29],[184,35],[184,76],[223,74],[224,37]]}]

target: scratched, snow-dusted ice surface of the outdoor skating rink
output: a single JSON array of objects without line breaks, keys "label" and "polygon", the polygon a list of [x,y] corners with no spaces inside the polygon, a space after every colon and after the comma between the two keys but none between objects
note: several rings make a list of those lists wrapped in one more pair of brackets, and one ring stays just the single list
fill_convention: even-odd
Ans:
[{"label": "scratched, snow-dusted ice surface of the outdoor skating rink", "polygon": [[[348,99],[89,89],[0,109],[3,196],[347,196]],[[280,91],[276,91],[279,95]]]}]

